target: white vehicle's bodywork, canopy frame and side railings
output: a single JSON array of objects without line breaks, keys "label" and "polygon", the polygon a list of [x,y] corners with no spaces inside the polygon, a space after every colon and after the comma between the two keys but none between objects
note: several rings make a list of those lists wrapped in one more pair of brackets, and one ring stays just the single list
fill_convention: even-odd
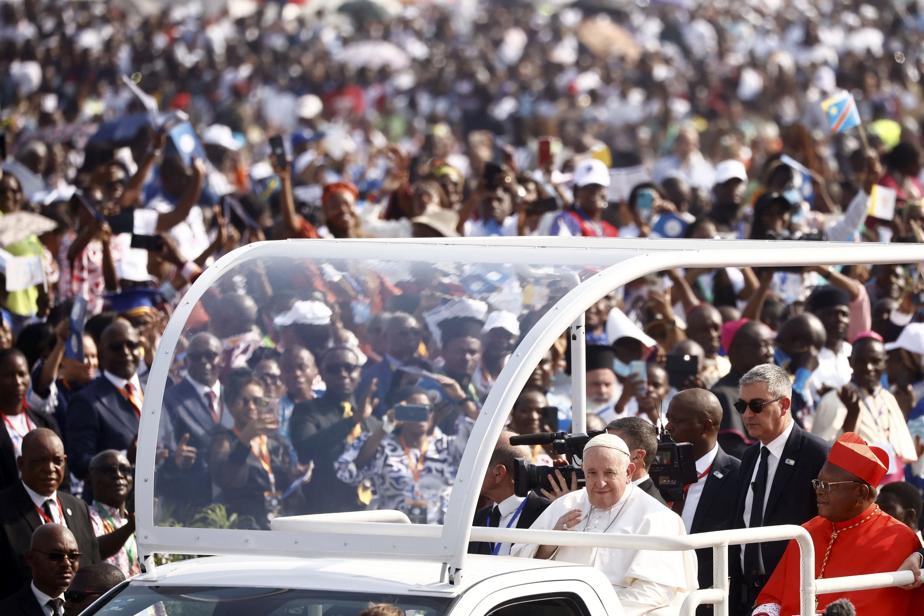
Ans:
[{"label": "white vehicle's bodywork, canopy frame and side railings", "polygon": [[[153,361],[141,415],[136,486],[137,539],[146,573],[116,586],[85,614],[231,616],[305,614],[357,616],[370,603],[391,603],[408,616],[621,616],[609,580],[568,562],[469,555],[469,540],[633,550],[713,547],[714,588],[693,590],[653,616],[695,613],[711,603],[728,614],[729,544],[796,538],[802,553],[801,614],[814,613],[815,595],[846,589],[901,586],[910,572],[812,579],[815,554],[798,526],[652,537],[472,527],[481,477],[517,394],[562,332],[572,328],[575,433],[586,431],[584,312],[614,289],[670,268],[837,265],[924,262],[918,244],[833,244],[728,240],[479,238],[459,240],[289,240],[238,248],[192,285],[167,325]],[[184,348],[188,320],[209,292],[234,292],[248,276],[275,291],[304,290],[323,280],[360,289],[367,298],[383,279],[430,284],[453,272],[470,305],[486,298],[519,313],[546,307],[522,337],[483,401],[462,454],[443,525],[412,525],[403,512],[384,510],[276,517],[271,529],[177,525],[160,499],[169,480],[157,466],[161,406],[168,371]],[[492,294],[486,296],[485,289]],[[264,307],[266,308],[266,307]],[[191,323],[192,321],[190,321]],[[526,328],[524,328],[526,329]],[[161,478],[161,482],[158,482]],[[162,485],[163,484],[163,485]],[[189,501],[203,497],[194,486]],[[211,495],[205,494],[208,499]],[[272,516],[272,513],[271,513]],[[263,526],[267,526],[263,521]],[[153,555],[210,555],[154,566]],[[695,579],[695,577],[694,577]],[[682,603],[682,605],[681,605]]]}]

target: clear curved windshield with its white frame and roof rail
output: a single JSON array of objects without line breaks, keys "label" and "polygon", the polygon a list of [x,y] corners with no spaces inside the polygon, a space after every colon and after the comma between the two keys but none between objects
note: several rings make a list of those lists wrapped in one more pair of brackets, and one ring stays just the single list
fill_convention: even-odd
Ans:
[{"label": "clear curved windshield with its white frame and roof rail", "polygon": [[[924,262],[924,246],[784,241],[312,239],[238,248],[188,290],[153,361],[135,484],[140,552],[399,555],[461,568],[481,478],[518,394],[553,346],[564,351],[565,341],[556,341],[582,326],[585,310],[602,297],[670,268],[917,262]],[[426,332],[422,340],[412,328],[399,334],[418,358],[383,357],[380,313],[395,311],[415,315]],[[487,395],[466,390],[456,403],[455,381],[444,375],[471,361],[472,349],[453,341],[480,335],[485,322],[492,331],[485,345],[506,335],[498,344],[516,347],[493,386],[480,383]],[[452,353],[437,359],[441,344]],[[298,345],[326,370],[323,380],[306,354],[292,350]],[[262,346],[289,349],[284,368],[304,369],[284,370],[292,375],[288,384],[310,380],[303,389],[312,390],[313,402],[292,411],[277,400],[278,370],[262,369],[272,362],[257,365],[268,373],[259,381],[233,369]],[[573,346],[582,355],[583,343]],[[212,368],[218,356],[225,365]],[[385,363],[372,370],[377,360]],[[224,383],[213,406],[217,427],[214,419],[203,425],[201,412],[190,418],[191,394],[180,389],[206,400],[207,387],[192,387],[188,377],[209,380],[214,372]],[[370,375],[379,377],[372,396],[379,405],[358,425]],[[573,393],[583,391],[582,376],[575,375]],[[582,398],[573,396],[575,431],[585,425]],[[383,413],[402,402],[429,404],[438,426],[426,453],[434,460],[404,496],[407,486],[397,485],[387,457],[364,452],[368,436],[359,434],[375,431]],[[281,434],[272,429],[276,422]],[[392,433],[393,444],[406,430],[413,441],[426,429],[406,422]],[[252,449],[242,444],[261,433],[266,439],[250,441]],[[196,447],[196,462],[180,469],[175,452],[184,443]],[[363,456],[371,462],[360,467]],[[399,513],[352,513],[367,508]],[[303,513],[312,515],[291,517]]]}]

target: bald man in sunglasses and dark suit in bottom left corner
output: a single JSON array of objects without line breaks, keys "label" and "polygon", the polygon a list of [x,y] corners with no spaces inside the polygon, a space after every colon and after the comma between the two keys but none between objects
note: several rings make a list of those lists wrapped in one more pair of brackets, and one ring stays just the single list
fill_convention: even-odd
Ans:
[{"label": "bald man in sunglasses and dark suit in bottom left corner", "polygon": [[62,616],[64,593],[79,567],[77,539],[67,526],[46,524],[31,535],[26,562],[32,581],[0,602],[4,616]]}]

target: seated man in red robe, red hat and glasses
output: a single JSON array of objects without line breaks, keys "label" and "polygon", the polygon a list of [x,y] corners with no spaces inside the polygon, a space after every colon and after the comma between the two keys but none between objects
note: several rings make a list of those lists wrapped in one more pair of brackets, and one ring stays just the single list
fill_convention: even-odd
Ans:
[{"label": "seated man in red robe, red hat and glasses", "polygon": [[[889,468],[889,455],[870,447],[853,432],[845,432],[831,448],[828,461],[812,482],[819,516],[802,525],[815,544],[816,579],[896,571],[908,554],[920,549],[914,531],[883,513],[876,504],[876,487]],[[861,616],[924,613],[918,591],[876,588],[818,596],[816,611],[847,598]],[[799,548],[786,547],[752,616],[793,616],[799,613]]]}]

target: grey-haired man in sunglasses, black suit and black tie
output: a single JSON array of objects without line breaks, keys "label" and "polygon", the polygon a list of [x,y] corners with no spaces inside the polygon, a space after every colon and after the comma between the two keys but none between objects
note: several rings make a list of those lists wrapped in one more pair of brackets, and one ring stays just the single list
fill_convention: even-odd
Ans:
[{"label": "grey-haired man in sunglasses, black suit and black tie", "polygon": [[[818,515],[811,480],[818,478],[831,445],[799,428],[790,412],[792,385],[783,368],[763,364],[741,377],[735,409],[759,442],[741,458],[732,528],[803,525]],[[761,506],[762,505],[762,506]],[[750,614],[754,601],[783,557],[787,541],[729,550],[732,614]]]}]

